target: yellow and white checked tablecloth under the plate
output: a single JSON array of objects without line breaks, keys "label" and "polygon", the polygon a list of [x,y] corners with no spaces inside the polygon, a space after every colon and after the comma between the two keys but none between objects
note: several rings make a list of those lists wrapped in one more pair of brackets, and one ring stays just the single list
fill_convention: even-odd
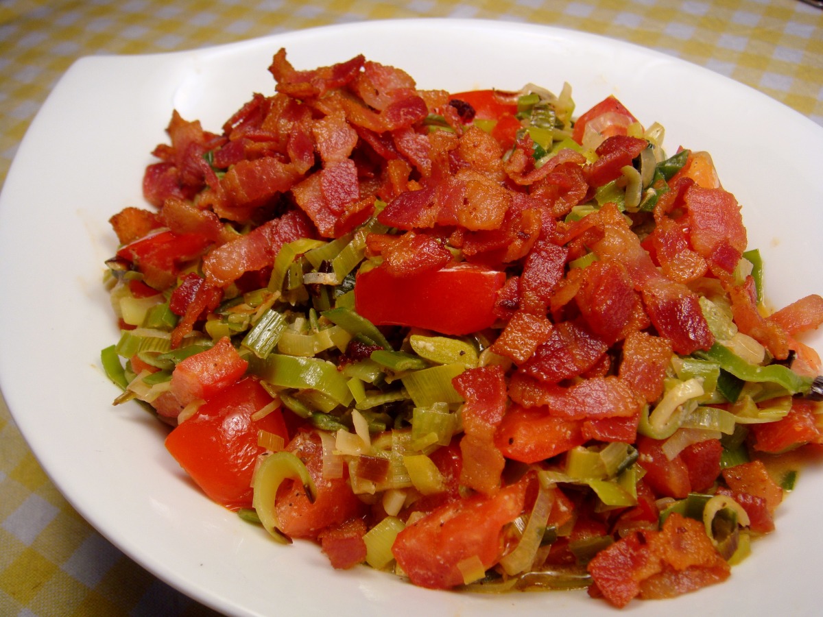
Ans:
[{"label": "yellow and white checked tablecloth under the plate", "polygon": [[[81,56],[414,17],[525,21],[630,41],[741,81],[823,125],[823,11],[798,0],[0,0],[0,187],[31,119]],[[0,397],[0,615],[158,614],[212,611],[74,511]]]}]

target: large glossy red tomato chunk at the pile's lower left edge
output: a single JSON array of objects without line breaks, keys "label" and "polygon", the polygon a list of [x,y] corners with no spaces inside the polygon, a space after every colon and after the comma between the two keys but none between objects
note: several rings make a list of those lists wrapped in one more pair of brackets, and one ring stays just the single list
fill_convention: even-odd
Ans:
[{"label": "large glossy red tomato chunk at the pile's lower left edge", "polygon": [[280,410],[251,416],[272,402],[253,378],[226,387],[165,439],[165,447],[205,494],[226,508],[250,508],[254,462],[265,452],[258,430],[286,439]]}]

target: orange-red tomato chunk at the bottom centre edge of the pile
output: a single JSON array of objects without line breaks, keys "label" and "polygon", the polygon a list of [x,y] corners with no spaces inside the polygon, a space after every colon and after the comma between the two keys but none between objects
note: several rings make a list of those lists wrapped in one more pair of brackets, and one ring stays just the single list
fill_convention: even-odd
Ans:
[{"label": "orange-red tomato chunk at the bottom centre edge of the pile", "polygon": [[503,552],[504,527],[523,511],[521,481],[493,496],[474,494],[447,503],[398,534],[392,553],[412,583],[449,589],[463,583],[458,564],[477,556],[491,568]]}]

